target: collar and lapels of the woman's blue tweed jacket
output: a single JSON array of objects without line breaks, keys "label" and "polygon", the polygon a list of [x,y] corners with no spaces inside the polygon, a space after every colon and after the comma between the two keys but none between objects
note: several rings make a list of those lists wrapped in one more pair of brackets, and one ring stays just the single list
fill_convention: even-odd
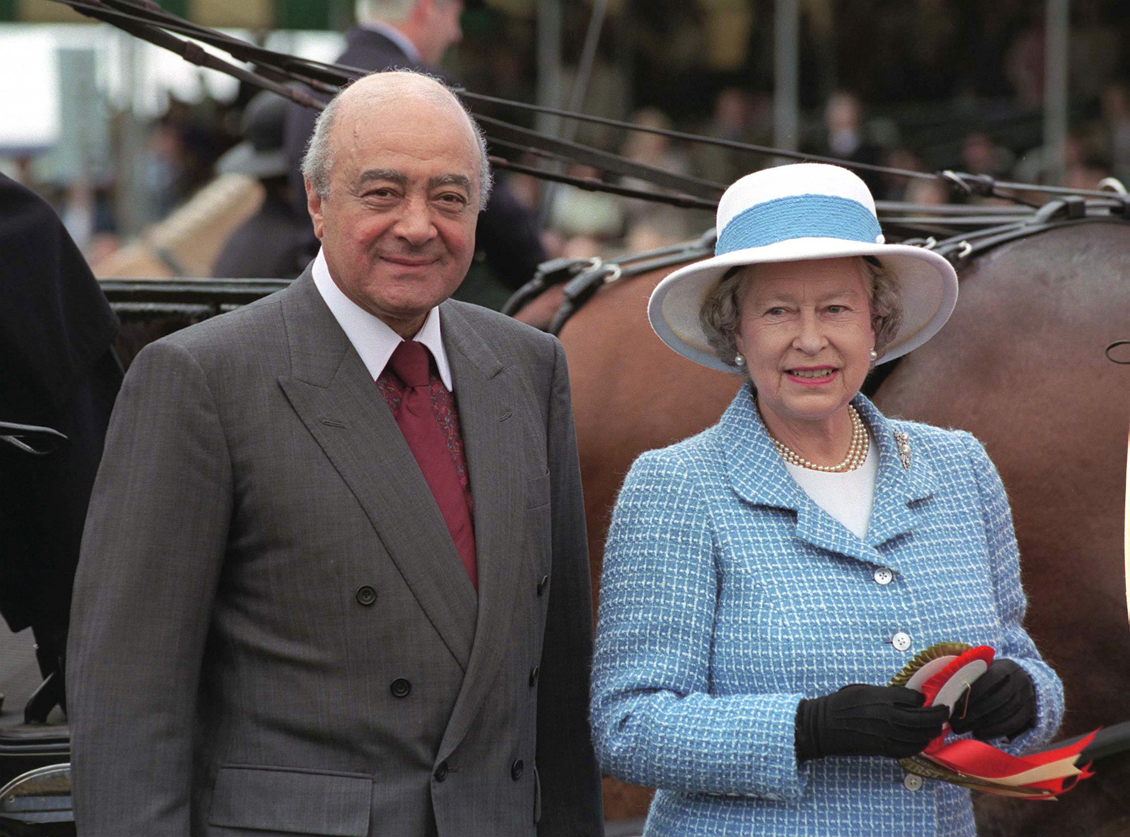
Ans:
[{"label": "collar and lapels of the woman's blue tweed jacket", "polygon": [[[852,404],[870,429],[879,455],[866,538],[857,537],[820,508],[785,470],[757,411],[751,384],[739,390],[722,415],[719,439],[727,454],[730,485],[742,500],[796,512],[797,537],[816,547],[890,566],[889,556],[880,561],[876,548],[911,531],[916,517],[912,504],[933,494],[937,477],[921,446],[915,455],[913,425],[888,420],[862,394],[852,399]],[[903,467],[896,431],[907,434],[910,468]]]}]

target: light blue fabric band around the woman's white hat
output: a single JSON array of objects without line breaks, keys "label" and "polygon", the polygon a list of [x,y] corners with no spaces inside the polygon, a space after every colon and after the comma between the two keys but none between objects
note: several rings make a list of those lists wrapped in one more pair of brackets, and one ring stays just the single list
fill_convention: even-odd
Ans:
[{"label": "light blue fabric band around the woman's white hat", "polygon": [[738,212],[718,236],[714,255],[790,238],[843,238],[875,244],[879,221],[859,201],[834,194],[775,198]]}]

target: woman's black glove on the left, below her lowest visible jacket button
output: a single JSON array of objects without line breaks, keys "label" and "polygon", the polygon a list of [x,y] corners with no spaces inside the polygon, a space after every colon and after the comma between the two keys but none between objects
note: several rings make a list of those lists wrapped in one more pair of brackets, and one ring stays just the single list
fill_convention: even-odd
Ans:
[{"label": "woman's black glove on the left, below her lowest visible jacket button", "polygon": [[797,761],[824,756],[906,758],[941,734],[945,706],[901,686],[845,686],[797,707]]}]

